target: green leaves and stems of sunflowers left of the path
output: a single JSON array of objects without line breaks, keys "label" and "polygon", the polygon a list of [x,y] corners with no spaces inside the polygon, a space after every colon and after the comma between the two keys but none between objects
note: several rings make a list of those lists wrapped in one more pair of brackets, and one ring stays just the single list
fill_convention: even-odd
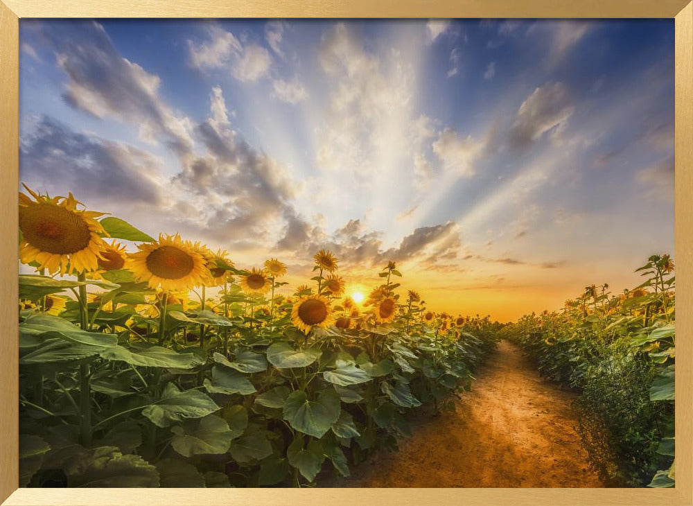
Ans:
[{"label": "green leaves and stems of sunflowers left of the path", "polygon": [[[101,223],[151,240],[115,218]],[[398,301],[390,278],[401,272],[382,274],[382,296]],[[245,295],[231,281],[204,307],[167,296],[162,317],[161,293],[128,270],[20,286],[33,304],[19,313],[20,485],[32,487],[300,487],[349,476],[410,435],[410,413],[468,388],[500,328],[487,317],[425,322],[419,302],[378,322],[369,299],[349,328],[306,333],[283,296]],[[104,291],[82,298],[83,286]],[[44,311],[46,295],[65,308]]]}]

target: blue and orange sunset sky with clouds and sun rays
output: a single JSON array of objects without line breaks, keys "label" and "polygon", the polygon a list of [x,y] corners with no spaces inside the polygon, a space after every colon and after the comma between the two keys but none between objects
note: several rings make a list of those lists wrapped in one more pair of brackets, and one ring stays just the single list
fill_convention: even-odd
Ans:
[{"label": "blue and orange sunset sky with clouds and sun rays", "polygon": [[[674,21],[20,21],[19,179],[500,321],[674,253]],[[131,245],[132,246],[132,245]],[[134,249],[131,247],[131,249]]]}]

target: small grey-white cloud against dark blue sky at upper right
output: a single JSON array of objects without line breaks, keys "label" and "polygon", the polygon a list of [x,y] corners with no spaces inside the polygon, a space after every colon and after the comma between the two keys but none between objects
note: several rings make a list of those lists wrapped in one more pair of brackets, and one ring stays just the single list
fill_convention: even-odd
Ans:
[{"label": "small grey-white cloud against dark blue sky at upper right", "polygon": [[565,85],[562,82],[547,82],[534,89],[520,105],[510,129],[511,142],[523,148],[549,130],[561,130],[573,110]]}]

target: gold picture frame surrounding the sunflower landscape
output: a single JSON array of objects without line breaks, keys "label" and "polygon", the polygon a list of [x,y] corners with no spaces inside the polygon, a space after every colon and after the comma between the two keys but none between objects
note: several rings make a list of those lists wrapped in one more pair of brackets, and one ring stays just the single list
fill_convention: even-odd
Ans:
[{"label": "gold picture frame surrounding the sunflower landscape", "polygon": [[[690,0],[0,0],[0,503],[19,505],[692,505],[693,313],[679,315],[675,489],[17,489],[19,18],[674,18],[677,298],[693,307],[693,2]],[[464,466],[464,463],[461,463]],[[502,471],[502,470],[501,470]],[[473,469],[468,472],[474,472]]]}]

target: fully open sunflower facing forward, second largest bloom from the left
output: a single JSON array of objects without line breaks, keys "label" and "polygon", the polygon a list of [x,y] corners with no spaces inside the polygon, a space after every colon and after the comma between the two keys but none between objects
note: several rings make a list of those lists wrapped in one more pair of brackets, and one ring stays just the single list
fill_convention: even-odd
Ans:
[{"label": "fully open sunflower facing forward, second largest bloom from the left", "polygon": [[204,250],[178,234],[159,234],[159,241],[137,245],[139,252],[129,256],[125,266],[138,281],[165,292],[189,290],[209,283],[210,274]]}]

